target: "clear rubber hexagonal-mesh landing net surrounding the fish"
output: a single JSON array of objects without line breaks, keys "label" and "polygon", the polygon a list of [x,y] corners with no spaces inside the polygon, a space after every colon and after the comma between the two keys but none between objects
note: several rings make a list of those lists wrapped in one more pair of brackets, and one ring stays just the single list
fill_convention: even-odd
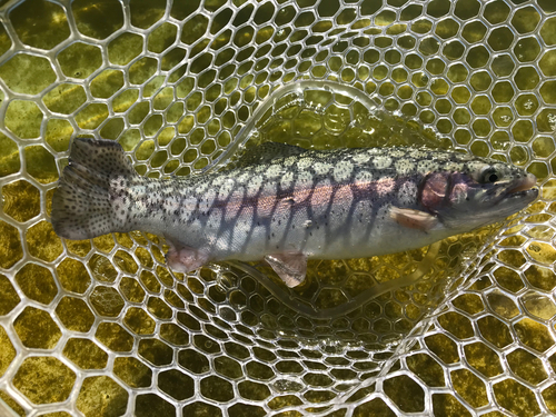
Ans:
[{"label": "clear rubber hexagonal-mesh landing net surrounding the fish", "polygon": [[[0,414],[556,413],[553,0],[0,3]],[[427,145],[542,197],[288,290],[262,265],[173,274],[151,235],[58,238],[76,136],[151,177],[268,140]]]}]

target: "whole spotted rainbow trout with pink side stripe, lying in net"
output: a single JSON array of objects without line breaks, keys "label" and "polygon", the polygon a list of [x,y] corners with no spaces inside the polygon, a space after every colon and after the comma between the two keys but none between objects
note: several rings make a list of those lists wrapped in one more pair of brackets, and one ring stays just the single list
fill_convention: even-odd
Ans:
[{"label": "whole spotted rainbow trout with pink side stripe, lying in net", "polygon": [[296,287],[308,259],[420,248],[503,221],[537,197],[534,175],[456,151],[265,142],[231,168],[156,179],[137,173],[118,142],[76,138],[51,222],[75,240],[132,230],[161,236],[177,272],[265,260]]}]

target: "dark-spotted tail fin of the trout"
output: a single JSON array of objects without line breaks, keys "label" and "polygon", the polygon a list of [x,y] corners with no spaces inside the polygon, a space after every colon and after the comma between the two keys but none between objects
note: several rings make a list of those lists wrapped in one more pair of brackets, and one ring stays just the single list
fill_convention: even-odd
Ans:
[{"label": "dark-spotted tail fin of the trout", "polygon": [[137,176],[118,142],[76,138],[69,165],[63,169],[52,197],[52,226],[68,239],[90,239],[123,230],[126,216],[115,212],[110,182]]}]

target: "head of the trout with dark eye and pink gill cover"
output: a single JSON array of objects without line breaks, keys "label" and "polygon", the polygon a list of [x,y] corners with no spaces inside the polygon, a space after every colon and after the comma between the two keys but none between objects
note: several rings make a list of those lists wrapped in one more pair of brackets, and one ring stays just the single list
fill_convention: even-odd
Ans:
[{"label": "head of the trout with dark eye and pink gill cover", "polygon": [[424,180],[421,203],[456,232],[502,221],[538,197],[537,179],[495,160],[471,160],[458,170],[433,172]]}]

